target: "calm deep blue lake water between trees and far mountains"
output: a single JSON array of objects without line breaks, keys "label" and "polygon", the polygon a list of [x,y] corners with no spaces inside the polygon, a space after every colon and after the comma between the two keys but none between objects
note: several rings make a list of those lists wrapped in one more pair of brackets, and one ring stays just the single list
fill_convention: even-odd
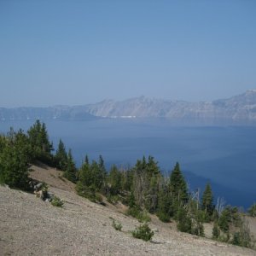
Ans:
[{"label": "calm deep blue lake water between trees and far mountains", "polygon": [[[34,121],[0,122],[27,130]],[[153,155],[162,172],[176,161],[189,188],[204,189],[210,181],[215,198],[247,208],[256,201],[256,128],[253,126],[177,126],[166,119],[96,119],[90,121],[45,120],[55,147],[61,138],[72,148],[79,166],[102,154],[106,166],[133,166],[137,159]]]}]

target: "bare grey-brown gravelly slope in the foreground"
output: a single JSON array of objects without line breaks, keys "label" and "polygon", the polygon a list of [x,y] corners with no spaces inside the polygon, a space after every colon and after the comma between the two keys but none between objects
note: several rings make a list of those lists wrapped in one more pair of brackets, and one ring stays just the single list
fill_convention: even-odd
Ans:
[{"label": "bare grey-brown gravelly slope in the foreground", "polygon": [[[177,232],[154,216],[152,241],[131,236],[139,223],[125,216],[122,206],[105,207],[74,193],[73,183],[47,166],[33,166],[32,177],[49,184],[65,201],[53,207],[35,195],[0,186],[0,255],[256,255],[231,246]],[[112,219],[123,225],[114,230]]]}]

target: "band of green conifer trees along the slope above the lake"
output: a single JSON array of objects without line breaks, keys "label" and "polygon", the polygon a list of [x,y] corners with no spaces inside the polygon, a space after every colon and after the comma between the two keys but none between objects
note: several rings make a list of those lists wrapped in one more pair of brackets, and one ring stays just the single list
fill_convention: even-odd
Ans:
[{"label": "band of green conifer trees along the slope above the lake", "polygon": [[203,224],[211,222],[212,239],[253,247],[253,237],[242,216],[255,217],[255,203],[244,213],[238,207],[224,205],[224,201],[214,203],[210,183],[202,193],[200,189],[190,191],[179,163],[169,177],[160,172],[157,160],[150,155],[137,160],[135,166],[113,165],[110,170],[102,155],[98,160],[85,155],[77,167],[72,150],[67,150],[62,140],[54,150],[46,125],[39,120],[27,132],[11,128],[6,135],[0,135],[0,183],[30,190],[30,166],[38,161],[60,169],[63,177],[76,184],[79,195],[101,204],[103,197],[112,204],[122,202],[128,207],[126,214],[142,223],[150,221],[151,213],[162,222],[175,221],[177,230],[204,236]]}]

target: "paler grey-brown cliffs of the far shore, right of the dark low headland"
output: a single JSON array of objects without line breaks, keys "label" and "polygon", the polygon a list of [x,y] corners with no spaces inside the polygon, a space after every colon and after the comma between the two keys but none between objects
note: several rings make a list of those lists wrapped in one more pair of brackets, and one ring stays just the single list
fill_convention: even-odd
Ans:
[{"label": "paler grey-brown cliffs of the far shore, right of the dark low headland", "polygon": [[214,102],[172,102],[139,97],[124,102],[104,101],[86,111],[107,117],[256,121],[256,90]]}]

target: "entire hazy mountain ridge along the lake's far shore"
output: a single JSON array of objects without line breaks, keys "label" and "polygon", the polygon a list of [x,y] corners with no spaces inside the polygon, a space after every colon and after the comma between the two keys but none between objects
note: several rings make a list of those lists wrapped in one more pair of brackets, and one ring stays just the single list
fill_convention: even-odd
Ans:
[{"label": "entire hazy mountain ridge along the lake's far shore", "polygon": [[145,96],[84,106],[0,108],[0,119],[166,118],[185,123],[256,124],[256,90],[213,102],[166,101]]}]

